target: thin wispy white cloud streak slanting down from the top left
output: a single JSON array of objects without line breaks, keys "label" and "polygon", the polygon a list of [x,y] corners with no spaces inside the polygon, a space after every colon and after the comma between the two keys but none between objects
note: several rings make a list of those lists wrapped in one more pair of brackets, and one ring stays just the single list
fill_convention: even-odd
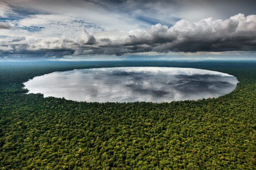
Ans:
[{"label": "thin wispy white cloud streak slanting down from the top left", "polygon": [[[147,23],[136,22],[133,17],[99,6],[91,0],[3,0],[13,8],[24,8],[38,11],[40,14],[78,17],[95,23],[106,29],[128,31],[138,27],[149,26]],[[0,1],[1,3],[1,1]],[[46,15],[47,17],[47,15]],[[50,16],[49,16],[50,17]],[[28,21],[29,22],[29,21]]]}]

